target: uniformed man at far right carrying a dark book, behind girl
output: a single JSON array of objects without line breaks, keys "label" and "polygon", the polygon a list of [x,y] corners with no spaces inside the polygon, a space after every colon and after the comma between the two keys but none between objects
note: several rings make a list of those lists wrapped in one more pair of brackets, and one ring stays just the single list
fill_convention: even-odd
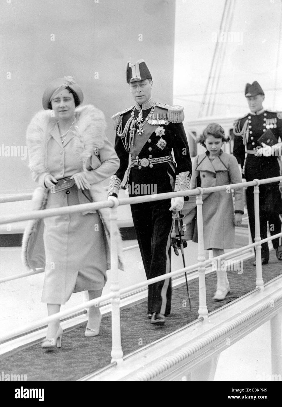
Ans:
[{"label": "uniformed man at far right carrying a dark book, behind girl", "polygon": [[[280,176],[280,157],[277,154],[264,156],[258,139],[266,133],[269,140],[275,136],[282,139],[282,112],[270,112],[262,107],[265,94],[259,83],[255,81],[247,83],[245,96],[250,112],[236,120],[234,123],[234,149],[233,154],[241,165],[242,173],[245,173],[246,181]],[[279,182],[260,185],[259,208],[260,208],[260,236],[267,238],[267,221],[271,236],[281,232],[282,201],[278,188]],[[246,190],[247,210],[251,238],[255,241],[255,212],[254,212],[254,187]],[[281,238],[272,240],[278,260],[282,260]],[[262,264],[269,261],[269,247],[262,243]],[[256,265],[256,262],[254,263]]]}]

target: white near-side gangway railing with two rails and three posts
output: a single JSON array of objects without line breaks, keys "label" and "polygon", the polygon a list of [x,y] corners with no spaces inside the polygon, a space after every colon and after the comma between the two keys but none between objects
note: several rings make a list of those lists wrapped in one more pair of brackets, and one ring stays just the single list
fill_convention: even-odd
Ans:
[{"label": "white near-side gangway railing with two rails and three posts", "polygon": [[[184,271],[191,269],[192,267],[195,268],[195,266],[198,267],[199,271],[199,299],[200,299],[200,306],[199,306],[199,316],[203,317],[204,322],[207,320],[207,308],[206,308],[206,293],[205,293],[205,266],[208,263],[211,263],[212,259],[205,260],[203,256],[203,222],[202,222],[202,195],[205,195],[207,193],[211,192],[217,192],[220,190],[227,190],[227,188],[230,189],[237,189],[237,188],[245,188],[248,186],[254,186],[254,200],[255,200],[255,219],[256,219],[256,239],[255,243],[252,243],[251,245],[244,246],[243,248],[241,247],[240,249],[235,249],[232,252],[224,253],[221,256],[217,256],[216,258],[223,258],[230,256],[232,253],[240,252],[242,249],[247,249],[249,247],[256,247],[256,284],[257,287],[260,288],[260,290],[263,289],[263,280],[262,280],[262,266],[261,266],[261,256],[260,256],[260,250],[261,250],[261,243],[264,243],[265,241],[269,241],[272,239],[275,239],[275,237],[282,236],[282,233],[276,234],[274,236],[270,236],[269,238],[260,239],[260,228],[259,228],[259,206],[258,206],[258,192],[259,192],[259,185],[260,184],[270,184],[272,182],[278,182],[281,181],[282,177],[273,177],[273,178],[267,178],[267,179],[255,179],[254,181],[250,182],[242,182],[238,184],[230,184],[230,185],[224,185],[224,186],[217,186],[217,187],[210,187],[210,188],[196,188],[195,190],[190,190],[190,191],[178,191],[178,192],[172,192],[172,193],[163,193],[163,194],[156,194],[156,195],[146,195],[146,196],[140,196],[140,197],[131,197],[131,198],[124,198],[124,199],[119,199],[117,204],[115,204],[113,201],[100,201],[97,203],[91,203],[91,204],[81,204],[81,205],[74,205],[74,206],[68,206],[68,207],[63,207],[63,208],[55,208],[55,209],[46,209],[46,210],[41,210],[41,211],[30,211],[26,212],[25,214],[16,214],[16,215],[11,215],[11,216],[0,216],[0,224],[3,223],[11,223],[15,221],[22,221],[22,220],[28,220],[28,219],[42,219],[45,217],[51,217],[59,214],[69,214],[69,213],[75,213],[75,212],[83,212],[85,210],[93,210],[93,209],[99,209],[99,208],[109,208],[110,210],[110,225],[111,225],[111,271],[112,271],[112,284],[111,284],[111,293],[107,295],[102,295],[100,298],[96,298],[95,300],[91,300],[88,302],[85,302],[83,304],[80,304],[78,306],[72,307],[71,309],[68,309],[67,311],[61,311],[57,314],[54,314],[50,317],[46,317],[44,319],[41,319],[37,322],[34,322],[33,324],[29,325],[28,327],[21,328],[19,330],[14,330],[13,332],[10,332],[9,334],[5,335],[4,337],[0,337],[0,341],[5,341],[7,339],[11,339],[11,337],[19,335],[21,333],[26,332],[26,329],[34,329],[38,328],[39,326],[42,325],[42,323],[48,323],[54,319],[57,319],[57,317],[64,317],[68,316],[73,312],[76,311],[81,311],[84,308],[88,308],[89,306],[92,306],[94,304],[97,304],[98,302],[101,302],[102,300],[107,300],[111,299],[112,302],[112,361],[116,361],[119,364],[123,363],[122,359],[122,348],[121,348],[121,337],[120,337],[120,314],[119,314],[119,303],[120,303],[120,295],[127,292],[128,290],[132,290],[134,288],[139,288],[139,287],[146,287],[149,284],[153,284],[157,281],[165,280],[166,278],[171,278],[171,276],[178,275],[178,274],[183,274]],[[192,265],[189,267],[185,267],[183,269],[179,269],[176,271],[173,271],[172,273],[162,275],[159,277],[152,278],[150,280],[141,282],[139,284],[135,284],[133,286],[127,287],[126,289],[119,289],[119,281],[118,281],[118,248],[116,245],[116,233],[117,233],[117,206],[119,205],[127,205],[127,204],[137,204],[137,203],[142,203],[142,202],[150,202],[150,201],[158,201],[162,199],[169,199],[172,197],[179,197],[179,196],[191,196],[191,195],[196,195],[197,196],[197,227],[198,227],[198,263],[196,265]],[[216,259],[214,258],[214,259]]]}]

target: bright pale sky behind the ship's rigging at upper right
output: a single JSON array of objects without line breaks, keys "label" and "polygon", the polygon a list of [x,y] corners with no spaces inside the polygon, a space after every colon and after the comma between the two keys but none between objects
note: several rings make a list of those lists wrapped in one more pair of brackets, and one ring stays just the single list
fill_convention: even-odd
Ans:
[{"label": "bright pale sky behind the ship's rigging at upper right", "polygon": [[[198,117],[216,45],[213,37],[220,28],[224,3],[225,0],[176,0],[174,103],[184,105],[188,120]],[[227,42],[215,116],[247,113],[245,84],[255,80],[265,92],[265,107],[282,110],[281,44],[278,46],[281,3],[235,1],[230,31],[240,33],[242,41]]]}]

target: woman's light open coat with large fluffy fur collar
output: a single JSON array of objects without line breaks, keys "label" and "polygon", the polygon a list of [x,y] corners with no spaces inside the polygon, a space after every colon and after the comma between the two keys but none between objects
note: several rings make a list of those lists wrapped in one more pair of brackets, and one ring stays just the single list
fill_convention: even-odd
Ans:
[{"label": "woman's light open coat with large fluffy fur collar", "polygon": [[[107,193],[102,181],[114,174],[119,168],[119,159],[114,147],[105,136],[105,118],[101,110],[92,105],[79,106],[75,110],[77,118],[74,133],[69,133],[62,144],[59,133],[55,131],[57,120],[52,117],[50,110],[38,112],[31,120],[27,129],[26,144],[29,155],[29,168],[35,182],[40,186],[33,196],[33,209],[41,210],[46,207],[49,190],[44,186],[44,177],[52,173],[56,179],[73,175],[74,164],[64,158],[74,152],[77,162],[80,162],[80,171],[84,171],[91,185],[90,195],[93,201],[107,200]],[[70,151],[68,151],[70,149]],[[97,150],[98,149],[98,150]],[[99,155],[97,155],[97,153]],[[91,162],[92,170],[86,167]],[[52,172],[49,171],[49,167]],[[82,196],[82,195],[81,195]],[[81,201],[80,203],[85,203]],[[109,258],[109,209],[98,210],[104,227],[105,247],[107,252],[107,268],[110,268]],[[45,266],[45,253],[43,244],[43,221],[31,220],[28,222],[22,242],[22,260],[28,270]],[[80,236],[77,236],[79,239]],[[119,267],[121,262],[121,237],[117,236],[119,245]]]}]

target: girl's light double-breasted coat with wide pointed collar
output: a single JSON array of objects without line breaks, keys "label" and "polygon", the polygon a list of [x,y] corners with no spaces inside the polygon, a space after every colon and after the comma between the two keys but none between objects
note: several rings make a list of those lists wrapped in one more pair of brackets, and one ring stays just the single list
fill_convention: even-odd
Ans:
[{"label": "girl's light double-breasted coat with wide pointed collar", "polygon": [[[196,185],[196,180],[201,179]],[[195,157],[192,169],[190,189],[208,188],[242,182],[238,162],[233,155],[224,153],[216,157],[212,162],[208,152]],[[234,247],[235,227],[234,210],[244,211],[243,188],[234,190],[235,207],[233,205],[232,192],[229,189],[203,195],[203,233],[204,249],[230,249]],[[184,204],[183,218],[186,224],[184,239],[197,242],[196,197],[190,197]]]}]

